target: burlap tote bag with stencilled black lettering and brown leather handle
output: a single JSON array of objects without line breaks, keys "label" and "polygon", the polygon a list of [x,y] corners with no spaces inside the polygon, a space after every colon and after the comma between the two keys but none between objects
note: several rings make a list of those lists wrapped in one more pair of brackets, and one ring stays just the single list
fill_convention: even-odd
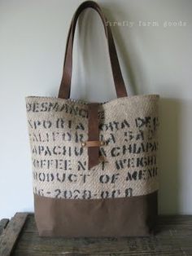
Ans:
[{"label": "burlap tote bag with stencilled black lettering and brown leather handle", "polygon": [[[70,99],[78,16],[100,15],[117,99]],[[26,97],[40,236],[147,236],[158,191],[159,95],[128,96],[110,26],[95,2],[76,10],[68,33],[59,97]]]}]

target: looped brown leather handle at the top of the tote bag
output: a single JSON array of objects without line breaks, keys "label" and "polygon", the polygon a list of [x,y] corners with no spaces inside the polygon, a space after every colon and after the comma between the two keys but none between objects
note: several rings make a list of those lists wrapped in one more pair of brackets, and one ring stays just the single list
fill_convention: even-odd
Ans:
[{"label": "looped brown leather handle at the top of the tote bag", "polygon": [[111,29],[109,26],[107,26],[107,19],[104,16],[103,11],[101,10],[101,8],[98,6],[96,2],[86,1],[86,2],[82,2],[81,5],[77,8],[75,14],[73,15],[70,29],[68,31],[68,40],[67,40],[64,64],[63,64],[63,76],[62,76],[62,80],[59,88],[59,98],[62,98],[62,99],[70,98],[71,81],[72,81],[72,48],[73,48],[73,42],[74,42],[74,34],[76,30],[76,23],[79,15],[81,15],[81,12],[89,7],[97,11],[98,15],[100,15],[103,21],[103,26],[104,26],[105,34],[107,38],[108,51],[109,51],[110,60],[111,60],[113,80],[116,86],[116,95],[118,98],[125,97],[127,96],[127,91],[126,91],[126,87],[124,86],[124,79],[120,71],[120,64],[119,64],[118,56],[116,53],[116,46],[112,37]]}]

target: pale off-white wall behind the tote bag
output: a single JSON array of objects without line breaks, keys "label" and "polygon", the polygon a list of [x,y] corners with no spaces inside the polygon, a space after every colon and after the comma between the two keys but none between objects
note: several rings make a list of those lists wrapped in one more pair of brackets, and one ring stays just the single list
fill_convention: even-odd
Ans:
[{"label": "pale off-white wall behind the tote bag", "polygon": [[[33,211],[24,97],[57,95],[68,27],[80,2],[0,1],[0,218]],[[129,93],[162,98],[159,213],[192,214],[192,1],[98,2],[108,20],[126,21],[111,29]],[[72,98],[112,99],[102,23],[87,11],[79,24]]]}]

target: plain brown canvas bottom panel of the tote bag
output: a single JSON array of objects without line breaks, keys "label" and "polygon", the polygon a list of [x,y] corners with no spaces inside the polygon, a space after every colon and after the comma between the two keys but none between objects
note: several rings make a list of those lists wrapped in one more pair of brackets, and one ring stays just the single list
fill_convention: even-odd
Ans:
[{"label": "plain brown canvas bottom panel of the tote bag", "polygon": [[157,192],[108,199],[55,199],[34,194],[40,236],[149,236],[157,216]]}]

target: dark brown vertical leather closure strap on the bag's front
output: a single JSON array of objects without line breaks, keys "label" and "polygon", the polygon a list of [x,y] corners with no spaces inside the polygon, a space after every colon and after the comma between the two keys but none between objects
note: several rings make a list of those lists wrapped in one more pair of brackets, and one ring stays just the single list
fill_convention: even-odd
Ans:
[{"label": "dark brown vertical leather closure strap on the bag's front", "polygon": [[[88,107],[88,139],[89,141],[99,140],[98,130],[98,103],[91,103]],[[99,147],[88,148],[88,168],[98,165]]]}]

